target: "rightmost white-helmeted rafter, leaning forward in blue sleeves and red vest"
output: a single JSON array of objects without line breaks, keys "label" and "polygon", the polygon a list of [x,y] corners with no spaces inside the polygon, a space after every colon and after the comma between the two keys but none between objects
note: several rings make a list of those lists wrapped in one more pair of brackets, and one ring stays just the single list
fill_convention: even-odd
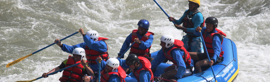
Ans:
[{"label": "rightmost white-helmeted rafter, leaning forward in blue sleeves and red vest", "polygon": [[170,82],[193,74],[193,60],[188,51],[183,47],[183,42],[175,40],[172,35],[163,35],[160,39],[161,50],[158,51],[156,58],[151,62],[151,69],[156,68],[167,58],[173,65],[164,69],[161,78],[169,79]]}]

